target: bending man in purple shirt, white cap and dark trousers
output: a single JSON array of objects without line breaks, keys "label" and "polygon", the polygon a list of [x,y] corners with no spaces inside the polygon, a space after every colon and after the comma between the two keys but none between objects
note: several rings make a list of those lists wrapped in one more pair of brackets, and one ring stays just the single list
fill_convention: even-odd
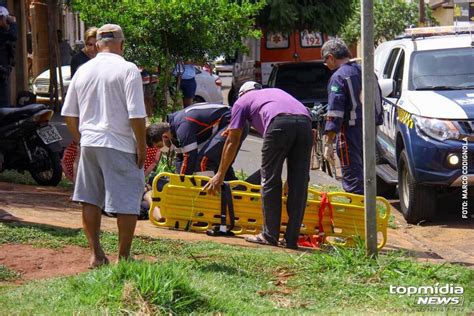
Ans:
[{"label": "bending man in purple shirt, white cap and dark trousers", "polygon": [[309,164],[312,145],[311,118],[306,107],[280,89],[262,89],[248,81],[239,90],[232,107],[228,136],[217,174],[204,187],[211,194],[220,190],[224,175],[237,155],[240,135],[246,122],[263,136],[262,147],[262,233],[247,241],[278,245],[281,222],[282,181],[285,159],[288,165],[288,224],[285,244],[297,248],[308,194]]}]

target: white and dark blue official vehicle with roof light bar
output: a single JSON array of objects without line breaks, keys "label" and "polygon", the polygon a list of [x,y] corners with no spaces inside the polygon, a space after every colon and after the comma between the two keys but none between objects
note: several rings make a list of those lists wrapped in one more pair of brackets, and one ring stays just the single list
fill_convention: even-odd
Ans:
[{"label": "white and dark blue official vehicle with roof light bar", "polygon": [[378,194],[390,195],[398,185],[409,223],[430,220],[441,196],[453,204],[463,200],[463,212],[474,208],[467,204],[468,191],[474,193],[472,31],[408,29],[375,51],[384,110],[376,146]]}]

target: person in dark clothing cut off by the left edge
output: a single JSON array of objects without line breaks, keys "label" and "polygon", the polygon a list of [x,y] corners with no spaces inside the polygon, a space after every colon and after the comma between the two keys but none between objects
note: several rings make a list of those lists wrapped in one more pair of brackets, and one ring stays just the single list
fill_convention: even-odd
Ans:
[{"label": "person in dark clothing cut off by the left edge", "polygon": [[16,40],[16,19],[0,6],[0,108],[11,106],[10,73],[15,66]]}]

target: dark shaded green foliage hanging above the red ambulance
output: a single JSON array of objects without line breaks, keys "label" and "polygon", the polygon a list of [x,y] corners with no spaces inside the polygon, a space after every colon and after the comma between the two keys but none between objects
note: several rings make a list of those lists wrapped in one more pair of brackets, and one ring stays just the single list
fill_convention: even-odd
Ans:
[{"label": "dark shaded green foliage hanging above the red ambulance", "polygon": [[280,32],[318,30],[337,34],[351,16],[354,0],[267,0],[258,25]]}]

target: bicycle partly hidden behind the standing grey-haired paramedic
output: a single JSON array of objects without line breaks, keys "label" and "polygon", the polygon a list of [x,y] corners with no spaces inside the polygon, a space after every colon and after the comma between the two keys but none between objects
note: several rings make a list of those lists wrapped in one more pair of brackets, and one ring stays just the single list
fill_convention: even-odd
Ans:
[{"label": "bicycle partly hidden behind the standing grey-haired paramedic", "polygon": [[321,169],[330,177],[336,177],[336,166],[324,157],[324,125],[326,122],[327,104],[315,104],[310,110],[313,127],[313,147],[311,149],[311,170]]}]

